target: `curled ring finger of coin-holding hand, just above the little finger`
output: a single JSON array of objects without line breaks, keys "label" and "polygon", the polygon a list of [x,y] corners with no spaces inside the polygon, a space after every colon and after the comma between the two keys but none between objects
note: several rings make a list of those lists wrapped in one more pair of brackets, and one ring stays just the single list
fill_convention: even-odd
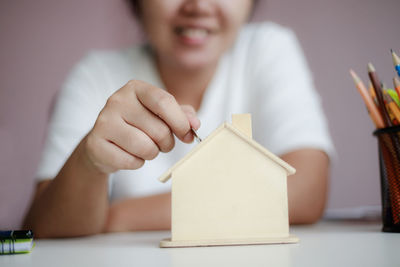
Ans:
[{"label": "curled ring finger of coin-holding hand, just above the little finger", "polygon": [[110,134],[109,141],[118,145],[131,155],[144,160],[152,160],[159,153],[158,146],[140,129],[126,123],[121,119],[115,131]]}]

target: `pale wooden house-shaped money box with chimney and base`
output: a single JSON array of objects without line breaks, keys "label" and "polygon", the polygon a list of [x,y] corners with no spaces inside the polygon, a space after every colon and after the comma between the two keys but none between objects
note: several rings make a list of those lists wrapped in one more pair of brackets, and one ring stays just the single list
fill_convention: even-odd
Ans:
[{"label": "pale wooden house-shaped money box with chimney and base", "polygon": [[233,115],[161,176],[172,179],[172,236],[160,246],[298,242],[288,218],[294,173],[252,139],[250,114]]}]

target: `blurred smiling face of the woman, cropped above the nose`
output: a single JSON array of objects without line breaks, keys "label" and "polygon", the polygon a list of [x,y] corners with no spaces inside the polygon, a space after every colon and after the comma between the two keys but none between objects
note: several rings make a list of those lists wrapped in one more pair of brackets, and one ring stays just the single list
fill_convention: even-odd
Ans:
[{"label": "blurred smiling face of the woman, cropped above the nose", "polygon": [[145,0],[141,21],[157,60],[197,69],[215,64],[247,20],[252,0]]}]

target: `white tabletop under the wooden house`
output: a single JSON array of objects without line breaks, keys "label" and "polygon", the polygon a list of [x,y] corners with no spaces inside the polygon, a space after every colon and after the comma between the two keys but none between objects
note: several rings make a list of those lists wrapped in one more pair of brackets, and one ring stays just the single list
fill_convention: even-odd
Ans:
[{"label": "white tabletop under the wooden house", "polygon": [[161,249],[165,231],[37,240],[30,254],[0,256],[0,266],[400,266],[400,234],[377,222],[323,221],[291,233],[300,243]]}]

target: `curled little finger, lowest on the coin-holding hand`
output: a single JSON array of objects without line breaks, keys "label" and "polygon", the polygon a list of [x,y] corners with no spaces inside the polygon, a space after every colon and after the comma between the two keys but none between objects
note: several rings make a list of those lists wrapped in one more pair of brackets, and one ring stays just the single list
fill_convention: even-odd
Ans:
[{"label": "curled little finger, lowest on the coin-holding hand", "polygon": [[92,146],[94,154],[98,155],[94,164],[105,173],[112,173],[117,170],[135,170],[143,166],[144,160],[131,155],[117,145],[98,138]]}]

